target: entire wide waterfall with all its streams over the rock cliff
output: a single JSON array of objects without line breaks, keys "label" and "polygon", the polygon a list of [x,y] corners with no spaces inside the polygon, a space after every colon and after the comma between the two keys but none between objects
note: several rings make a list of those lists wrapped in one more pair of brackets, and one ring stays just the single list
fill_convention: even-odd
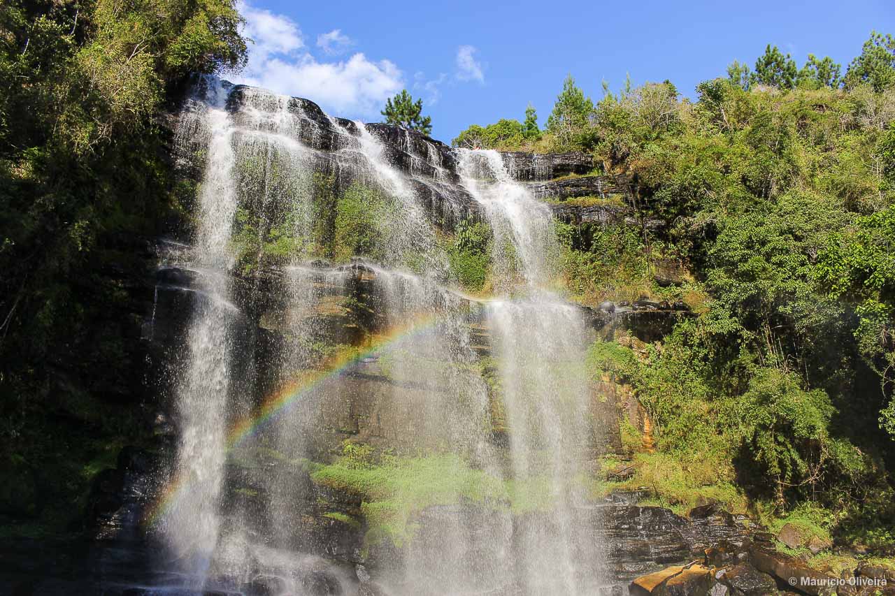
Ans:
[{"label": "entire wide waterfall with all its streams over the rock cliff", "polygon": [[[162,523],[179,588],[353,593],[364,563],[396,595],[592,593],[600,558],[576,519],[593,459],[588,332],[549,289],[550,211],[497,152],[405,131],[389,144],[305,100],[200,88],[178,131],[183,153],[204,155],[195,247],[177,264],[198,297]],[[490,226],[494,298],[453,289],[421,200],[438,193],[471,198]],[[309,478],[344,444],[434,458],[481,486],[401,517],[403,545],[347,545],[332,524],[372,510]]]}]

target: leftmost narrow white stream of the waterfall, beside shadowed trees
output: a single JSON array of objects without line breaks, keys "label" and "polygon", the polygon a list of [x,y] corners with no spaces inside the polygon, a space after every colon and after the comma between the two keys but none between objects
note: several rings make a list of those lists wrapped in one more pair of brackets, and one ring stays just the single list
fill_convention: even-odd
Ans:
[{"label": "leftmost narrow white stream of the waterfall, beside shadowed trees", "polygon": [[[180,443],[177,475],[194,490],[166,516],[165,533],[185,571],[201,587],[217,544],[217,502],[224,479],[227,394],[230,387],[230,305],[227,273],[233,265],[228,241],[236,209],[233,183],[234,124],[226,111],[229,85],[203,79],[184,112],[178,140],[204,140],[207,158],[199,194],[199,227],[192,267],[202,291],[187,335],[186,362],[177,392]],[[204,98],[202,97],[204,95]]]}]

